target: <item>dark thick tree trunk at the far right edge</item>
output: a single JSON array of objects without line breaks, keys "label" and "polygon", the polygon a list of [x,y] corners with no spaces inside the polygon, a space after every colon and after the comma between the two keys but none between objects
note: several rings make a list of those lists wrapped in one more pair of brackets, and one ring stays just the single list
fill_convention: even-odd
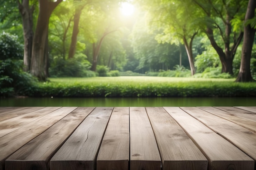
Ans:
[{"label": "dark thick tree trunk at the far right edge", "polygon": [[[245,15],[245,22],[255,16],[256,1],[249,0],[247,11]],[[244,27],[244,40],[241,56],[240,71],[236,82],[251,82],[254,81],[251,75],[250,62],[252,55],[252,46],[254,44],[255,29],[252,26],[245,25]]]}]

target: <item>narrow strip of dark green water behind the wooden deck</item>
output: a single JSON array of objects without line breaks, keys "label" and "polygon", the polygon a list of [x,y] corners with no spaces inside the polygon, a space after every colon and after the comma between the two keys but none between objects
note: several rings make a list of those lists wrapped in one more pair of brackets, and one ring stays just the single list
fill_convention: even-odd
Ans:
[{"label": "narrow strip of dark green water behind the wooden deck", "polygon": [[0,106],[256,106],[256,97],[0,98]]}]

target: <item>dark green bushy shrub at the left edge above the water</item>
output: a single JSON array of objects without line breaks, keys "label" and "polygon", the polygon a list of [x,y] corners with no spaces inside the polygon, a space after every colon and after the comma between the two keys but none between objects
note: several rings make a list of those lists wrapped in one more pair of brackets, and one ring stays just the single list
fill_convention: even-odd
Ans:
[{"label": "dark green bushy shrub at the left edge above the water", "polygon": [[0,96],[24,95],[36,81],[22,70],[22,52],[17,36],[0,35]]}]

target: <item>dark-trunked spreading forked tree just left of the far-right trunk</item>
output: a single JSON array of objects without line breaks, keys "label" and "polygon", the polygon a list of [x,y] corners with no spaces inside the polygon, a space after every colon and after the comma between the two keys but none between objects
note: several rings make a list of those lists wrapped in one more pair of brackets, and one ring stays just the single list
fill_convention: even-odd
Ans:
[{"label": "dark-trunked spreading forked tree just left of the far-right trunk", "polygon": [[[192,0],[205,14],[202,30],[209,38],[222,64],[222,73],[233,74],[233,60],[243,31],[232,29],[231,21],[241,20],[246,0]],[[224,47],[224,48],[223,48]]]}]

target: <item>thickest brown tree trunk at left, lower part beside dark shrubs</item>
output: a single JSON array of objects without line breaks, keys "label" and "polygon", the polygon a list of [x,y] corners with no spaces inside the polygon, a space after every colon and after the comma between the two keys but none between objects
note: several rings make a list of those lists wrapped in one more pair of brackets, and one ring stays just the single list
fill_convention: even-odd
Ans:
[{"label": "thickest brown tree trunk at left, lower part beside dark shrubs", "polygon": [[36,31],[33,39],[32,58],[30,72],[38,77],[40,81],[47,80],[46,75],[46,55],[45,44],[48,37],[48,24],[52,11],[57,7],[62,0],[49,2],[48,0],[39,0],[39,15],[36,24]]}]

